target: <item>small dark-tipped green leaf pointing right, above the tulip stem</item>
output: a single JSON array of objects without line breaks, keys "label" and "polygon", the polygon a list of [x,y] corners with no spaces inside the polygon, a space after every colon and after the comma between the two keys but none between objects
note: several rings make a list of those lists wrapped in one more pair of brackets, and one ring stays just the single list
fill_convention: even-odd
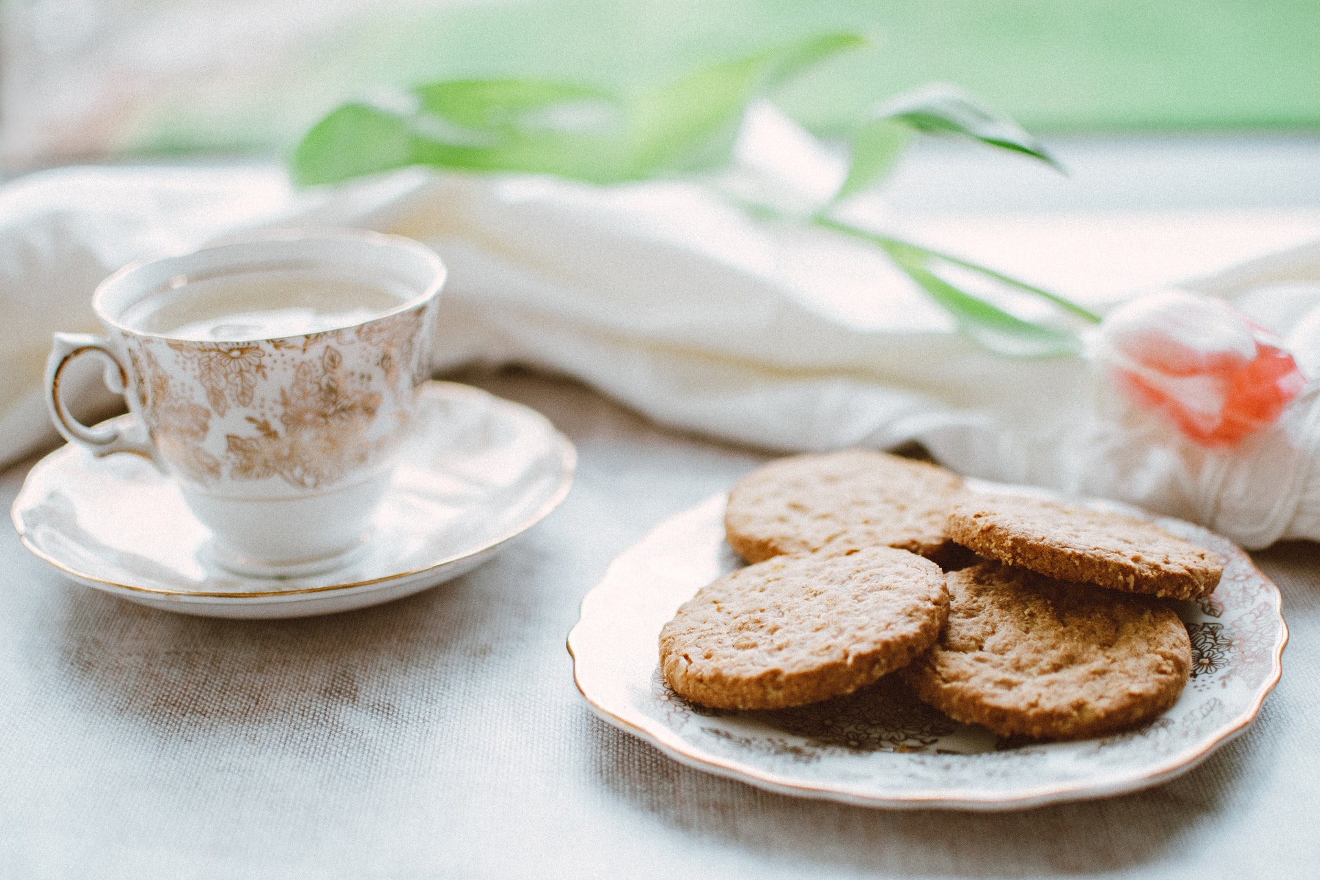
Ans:
[{"label": "small dark-tipped green leaf pointing right, above the tulip stem", "polygon": [[1024,153],[1064,172],[1064,166],[1022,125],[989,108],[957,86],[933,83],[899,95],[879,107],[876,119],[892,119],[929,135],[970,137],[1001,149]]}]

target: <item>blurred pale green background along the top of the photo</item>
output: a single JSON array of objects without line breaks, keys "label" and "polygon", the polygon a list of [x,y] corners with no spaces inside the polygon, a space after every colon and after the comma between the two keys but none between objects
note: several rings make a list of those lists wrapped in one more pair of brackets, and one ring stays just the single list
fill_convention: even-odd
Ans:
[{"label": "blurred pale green background along the top of the photo", "polygon": [[[24,29],[38,33],[41,16],[58,4],[5,5],[11,34],[21,42]],[[824,133],[867,103],[932,79],[966,86],[1047,136],[1320,131],[1320,0],[107,0],[102,7],[100,41],[79,54],[65,34],[61,51],[66,65],[100,63],[86,79],[96,88],[111,80],[117,104],[100,112],[99,128],[66,127],[55,142],[29,152],[57,158],[79,149],[281,153],[335,104],[381,87],[510,74],[630,87],[825,29],[862,30],[876,45],[783,95],[792,115]],[[172,41],[181,45],[173,71],[161,61]],[[11,50],[13,42],[11,36]],[[125,46],[150,63],[135,62]],[[7,63],[21,67],[26,57],[32,66],[34,58],[38,69],[45,63],[37,71],[45,79],[7,70],[11,125],[40,116],[44,106],[69,103],[42,92],[58,79],[59,53],[18,49]],[[67,82],[63,88],[87,92]]]}]

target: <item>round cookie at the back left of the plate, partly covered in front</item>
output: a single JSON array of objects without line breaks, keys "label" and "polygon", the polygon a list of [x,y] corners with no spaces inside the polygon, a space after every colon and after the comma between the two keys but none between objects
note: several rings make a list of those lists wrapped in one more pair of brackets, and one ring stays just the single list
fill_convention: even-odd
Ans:
[{"label": "round cookie at the back left of the plate, partly covered in front", "polygon": [[937,557],[962,479],[870,450],[795,455],[734,486],[725,537],[748,562],[828,548],[891,546]]}]

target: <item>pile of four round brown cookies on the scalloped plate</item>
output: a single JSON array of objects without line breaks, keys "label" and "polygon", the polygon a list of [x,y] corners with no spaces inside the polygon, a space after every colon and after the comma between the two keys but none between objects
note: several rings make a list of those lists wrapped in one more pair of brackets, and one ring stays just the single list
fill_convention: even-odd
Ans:
[{"label": "pile of four round brown cookies on the scalloped plate", "polygon": [[1208,596],[1222,571],[1148,522],[969,492],[941,467],[863,450],[755,471],[725,528],[752,565],[661,631],[677,694],[784,708],[898,672],[1001,736],[1097,736],[1168,708],[1191,641],[1166,600]]}]

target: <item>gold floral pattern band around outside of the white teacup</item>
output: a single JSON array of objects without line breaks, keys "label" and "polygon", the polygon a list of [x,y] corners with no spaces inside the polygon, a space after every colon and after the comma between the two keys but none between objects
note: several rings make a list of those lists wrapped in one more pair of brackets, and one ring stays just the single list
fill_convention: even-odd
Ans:
[{"label": "gold floral pattern band around outside of the white teacup", "polygon": [[[123,334],[123,342],[148,435],[181,478],[203,486],[279,479],[314,489],[370,470],[397,445],[407,398],[428,377],[418,342],[425,321],[421,307],[271,340]],[[242,422],[223,418],[231,414]]]}]

